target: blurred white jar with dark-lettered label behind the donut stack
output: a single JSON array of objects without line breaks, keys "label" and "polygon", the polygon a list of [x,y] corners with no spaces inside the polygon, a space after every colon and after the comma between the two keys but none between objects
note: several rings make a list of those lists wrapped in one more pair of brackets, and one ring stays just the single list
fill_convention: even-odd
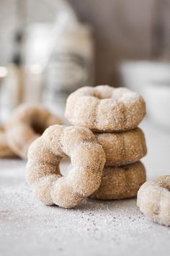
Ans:
[{"label": "blurred white jar with dark-lettered label behind the donut stack", "polygon": [[94,41],[91,27],[66,12],[58,16],[54,46],[46,70],[45,102],[64,105],[69,93],[94,85]]}]

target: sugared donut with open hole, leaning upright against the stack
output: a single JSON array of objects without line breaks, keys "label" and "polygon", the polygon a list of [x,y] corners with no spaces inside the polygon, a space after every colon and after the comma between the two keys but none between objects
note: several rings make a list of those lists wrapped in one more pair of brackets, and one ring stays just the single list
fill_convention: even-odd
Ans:
[{"label": "sugared donut with open hole, leaning upright against the stack", "polygon": [[[66,155],[72,168],[62,176],[59,163]],[[25,175],[40,201],[73,208],[99,187],[104,163],[104,150],[89,129],[53,125],[30,146]]]}]

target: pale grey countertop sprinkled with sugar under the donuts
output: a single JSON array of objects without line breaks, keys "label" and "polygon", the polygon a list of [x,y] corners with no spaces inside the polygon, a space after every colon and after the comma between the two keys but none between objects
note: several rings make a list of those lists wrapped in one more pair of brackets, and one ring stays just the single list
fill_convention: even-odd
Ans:
[{"label": "pale grey countertop sprinkled with sugar under the donuts", "polygon": [[[148,179],[169,174],[170,133],[148,121],[141,127]],[[169,255],[170,229],[143,216],[135,199],[86,200],[71,210],[48,207],[24,181],[24,164],[0,161],[1,256]]]}]

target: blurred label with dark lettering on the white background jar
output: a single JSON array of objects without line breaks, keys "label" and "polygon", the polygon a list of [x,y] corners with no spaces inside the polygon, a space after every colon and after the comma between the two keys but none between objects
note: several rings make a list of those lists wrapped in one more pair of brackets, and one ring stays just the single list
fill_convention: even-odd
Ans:
[{"label": "blurred label with dark lettering on the white background jar", "polygon": [[47,89],[49,93],[66,92],[91,85],[90,62],[73,53],[55,53],[48,64]]}]

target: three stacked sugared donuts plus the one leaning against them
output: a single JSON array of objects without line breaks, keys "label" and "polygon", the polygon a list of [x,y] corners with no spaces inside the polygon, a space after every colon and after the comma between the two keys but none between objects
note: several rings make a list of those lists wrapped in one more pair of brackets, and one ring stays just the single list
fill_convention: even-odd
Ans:
[{"label": "three stacked sugared donuts plus the one leaning against them", "polygon": [[[134,197],[146,181],[140,158],[145,137],[137,126],[146,114],[143,98],[126,88],[84,87],[66,103],[73,126],[55,124],[32,142],[26,180],[46,205],[73,208],[86,197]],[[71,158],[68,175],[60,162]]]}]

